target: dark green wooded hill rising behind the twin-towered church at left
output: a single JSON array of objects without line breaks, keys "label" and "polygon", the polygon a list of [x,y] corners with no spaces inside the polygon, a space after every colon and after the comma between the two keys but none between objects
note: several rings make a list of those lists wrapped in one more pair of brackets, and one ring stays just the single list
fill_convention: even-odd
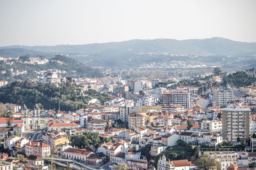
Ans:
[{"label": "dark green wooded hill rising behind the twin-towered church at left", "polygon": [[44,109],[52,110],[58,108],[60,101],[60,110],[75,111],[85,108],[88,101],[93,98],[99,99],[102,103],[110,99],[107,94],[97,94],[95,90],[83,94],[81,88],[70,81],[60,87],[52,83],[15,81],[0,89],[1,103],[26,104],[30,109],[37,103]]}]

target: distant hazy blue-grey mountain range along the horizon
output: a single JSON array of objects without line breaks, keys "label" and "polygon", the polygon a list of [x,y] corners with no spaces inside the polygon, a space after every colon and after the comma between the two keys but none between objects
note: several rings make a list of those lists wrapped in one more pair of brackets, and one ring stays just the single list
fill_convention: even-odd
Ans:
[{"label": "distant hazy blue-grey mountain range along the horizon", "polygon": [[[225,38],[207,39],[134,39],[130,41],[95,43],[88,45],[56,45],[56,46],[1,46],[0,55],[44,55],[53,56],[56,53],[66,53],[70,57],[92,66],[116,66],[118,60],[141,62],[139,53],[168,52],[178,55],[223,55],[232,57],[255,57],[256,43],[244,43]],[[159,55],[158,55],[159,57]],[[156,57],[145,59],[146,62],[156,61]],[[113,62],[111,62],[113,61]],[[115,63],[116,62],[116,63]]]}]

